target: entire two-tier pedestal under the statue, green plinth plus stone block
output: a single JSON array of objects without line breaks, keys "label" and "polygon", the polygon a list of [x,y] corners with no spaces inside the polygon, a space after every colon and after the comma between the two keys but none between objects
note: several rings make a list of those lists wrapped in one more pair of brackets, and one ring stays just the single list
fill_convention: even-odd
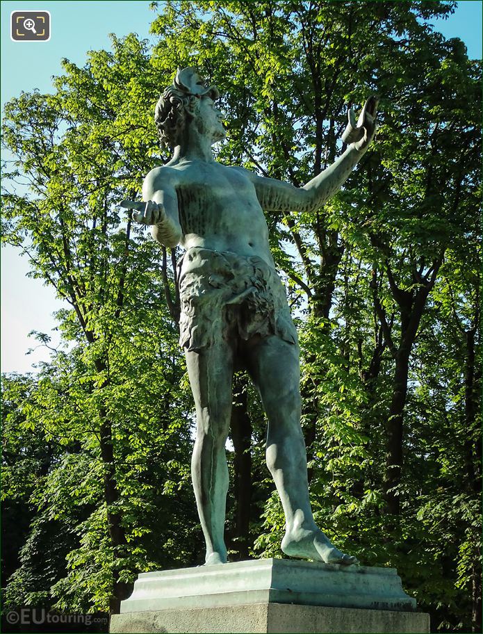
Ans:
[{"label": "entire two-tier pedestal under the statue, green plinth plus stone block", "polygon": [[391,568],[266,559],[140,574],[111,633],[416,633]]}]

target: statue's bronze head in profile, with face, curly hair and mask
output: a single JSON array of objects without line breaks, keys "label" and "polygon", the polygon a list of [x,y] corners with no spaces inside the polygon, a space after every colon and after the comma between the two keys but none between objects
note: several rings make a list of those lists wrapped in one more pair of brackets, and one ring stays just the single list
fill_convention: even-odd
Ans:
[{"label": "statue's bronze head in profile, with face, curly hair and mask", "polygon": [[181,143],[186,128],[211,136],[211,143],[224,138],[221,113],[215,108],[220,97],[216,86],[206,86],[194,68],[178,69],[174,82],[166,88],[154,111],[161,143],[171,149]]}]

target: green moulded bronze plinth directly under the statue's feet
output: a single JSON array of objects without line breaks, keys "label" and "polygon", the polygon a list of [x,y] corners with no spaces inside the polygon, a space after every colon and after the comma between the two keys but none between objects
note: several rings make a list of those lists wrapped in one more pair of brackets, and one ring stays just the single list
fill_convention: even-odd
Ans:
[{"label": "green moulded bronze plinth directly under the statue's feet", "polygon": [[145,572],[121,614],[191,608],[233,608],[249,603],[295,603],[328,608],[414,612],[393,568],[340,566],[288,559],[259,559],[178,570]]}]

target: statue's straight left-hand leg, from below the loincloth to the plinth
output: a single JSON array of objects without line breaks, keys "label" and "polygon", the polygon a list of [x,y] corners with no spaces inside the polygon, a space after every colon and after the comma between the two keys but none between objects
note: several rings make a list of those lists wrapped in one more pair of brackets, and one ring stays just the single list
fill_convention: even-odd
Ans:
[{"label": "statue's straight left-hand leg, from below the loincloth to the plinth", "polygon": [[186,352],[186,364],[197,426],[191,474],[206,541],[206,564],[222,564],[227,561],[223,533],[228,466],[224,446],[231,416],[233,351],[227,343],[217,343],[199,352]]}]

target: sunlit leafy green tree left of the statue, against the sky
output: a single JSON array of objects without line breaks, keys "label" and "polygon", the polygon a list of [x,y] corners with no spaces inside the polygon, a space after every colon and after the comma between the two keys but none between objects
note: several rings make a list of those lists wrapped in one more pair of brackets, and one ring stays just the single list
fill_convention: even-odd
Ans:
[{"label": "sunlit leafy green tree left of the statue, against the sky", "polygon": [[[187,391],[179,389],[183,364],[167,254],[132,229],[116,206],[136,195],[149,157],[158,153],[148,127],[155,92],[145,44],[134,36],[113,38],[113,53],[92,52],[84,68],[67,60],[64,67],[54,95],[22,94],[6,106],[4,139],[15,158],[8,174],[13,186],[4,195],[3,241],[21,246],[33,275],[54,286],[69,305],[57,316],[74,350],[58,353],[45,369],[29,416],[42,421],[52,437],[79,442],[83,460],[64,456],[67,462],[50,474],[42,507],[58,505],[58,487],[80,495],[72,491],[77,477],[63,482],[65,469],[81,469],[79,478],[90,484],[94,473],[100,478],[100,490],[97,484],[88,487],[97,511],[82,527],[80,551],[69,558],[72,569],[89,567],[97,544],[101,580],[91,578],[94,589],[88,587],[70,605],[87,601],[105,608],[107,593],[110,610],[117,611],[129,596],[133,571],[154,566],[136,544],[151,529],[139,526],[138,514],[146,509],[136,502],[139,490],[132,481],[159,495],[159,482],[149,485],[142,475],[146,461],[157,459],[165,478],[173,471],[183,482],[191,423]],[[19,178],[22,194],[15,188]],[[167,446],[172,452],[162,459]],[[70,583],[81,587],[79,573],[70,575]],[[60,601],[62,607],[66,601]]]}]

